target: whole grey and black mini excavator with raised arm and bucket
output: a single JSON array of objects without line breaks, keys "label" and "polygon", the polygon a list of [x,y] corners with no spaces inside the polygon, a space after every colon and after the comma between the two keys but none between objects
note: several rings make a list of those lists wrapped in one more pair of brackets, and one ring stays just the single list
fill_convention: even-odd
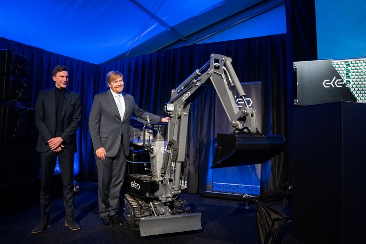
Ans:
[{"label": "whole grey and black mini excavator with raised arm and bucket", "polygon": [[[246,101],[230,57],[211,54],[176,89],[165,104],[168,123],[131,127],[131,147],[125,176],[124,217],[141,236],[202,229],[201,214],[191,213],[180,194],[187,188],[187,128],[191,103],[210,85],[225,109],[233,134],[218,134],[211,168],[265,163],[286,147],[283,136],[263,136],[256,127],[256,110],[241,108],[235,94]],[[162,136],[166,129],[167,136]],[[137,126],[138,127],[138,126]],[[141,128],[142,127],[142,128]],[[165,128],[162,128],[165,127]]]}]

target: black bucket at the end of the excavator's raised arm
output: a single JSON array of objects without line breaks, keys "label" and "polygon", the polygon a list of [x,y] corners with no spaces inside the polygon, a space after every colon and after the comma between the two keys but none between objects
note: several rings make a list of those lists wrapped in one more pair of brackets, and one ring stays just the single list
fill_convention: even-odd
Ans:
[{"label": "black bucket at the end of the excavator's raised arm", "polygon": [[217,149],[211,168],[265,163],[285,147],[283,136],[217,134]]}]

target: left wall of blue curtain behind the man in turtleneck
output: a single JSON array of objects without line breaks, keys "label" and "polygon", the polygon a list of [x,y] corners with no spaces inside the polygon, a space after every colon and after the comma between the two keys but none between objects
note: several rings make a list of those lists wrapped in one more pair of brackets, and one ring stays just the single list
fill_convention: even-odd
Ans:
[{"label": "left wall of blue curtain behind the man in turtleneck", "polygon": [[93,83],[96,80],[95,64],[83,62],[60,54],[54,54],[42,49],[30,47],[18,42],[0,38],[0,49],[10,49],[28,58],[26,78],[29,99],[24,103],[27,108],[34,108],[38,93],[43,89],[54,87],[52,69],[58,65],[66,65],[70,69],[68,88],[80,94],[82,100],[81,126],[77,132],[78,154],[76,154],[74,171],[77,175],[89,175],[94,170],[91,152],[91,142],[88,139],[88,116],[93,102]]}]

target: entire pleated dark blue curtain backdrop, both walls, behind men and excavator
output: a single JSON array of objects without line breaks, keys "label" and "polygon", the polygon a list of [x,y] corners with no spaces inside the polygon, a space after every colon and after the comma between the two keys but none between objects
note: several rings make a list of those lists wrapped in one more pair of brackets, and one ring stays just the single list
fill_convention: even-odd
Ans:
[{"label": "entire pleated dark blue curtain backdrop, both walls, behind men and excavator", "polygon": [[[0,39],[0,49],[11,49],[29,58],[28,85],[31,99],[26,106],[30,108],[34,108],[40,90],[54,86],[51,79],[52,68],[57,64],[70,68],[69,88],[80,93],[83,101],[82,120],[78,130],[80,176],[96,174],[88,117],[93,97],[106,90],[105,75],[111,70],[119,70],[124,74],[124,91],[134,96],[141,108],[164,116],[164,104],[169,101],[172,88],[205,64],[211,53],[230,56],[240,81],[262,81],[262,134],[287,136],[288,60],[284,34],[191,45],[99,65],[3,38]],[[214,89],[210,87],[191,106],[188,128],[188,192],[202,192],[211,188],[209,178],[212,173],[209,166],[214,153],[214,103]],[[272,193],[287,181],[285,153],[262,168],[261,194]]]}]

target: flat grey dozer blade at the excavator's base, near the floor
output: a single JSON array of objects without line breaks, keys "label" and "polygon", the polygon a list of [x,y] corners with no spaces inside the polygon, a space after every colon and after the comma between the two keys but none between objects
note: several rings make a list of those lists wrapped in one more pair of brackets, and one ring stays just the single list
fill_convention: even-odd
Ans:
[{"label": "flat grey dozer blade at the excavator's base, near the floor", "polygon": [[140,222],[141,236],[160,235],[201,229],[201,213],[150,216],[141,218]]}]

